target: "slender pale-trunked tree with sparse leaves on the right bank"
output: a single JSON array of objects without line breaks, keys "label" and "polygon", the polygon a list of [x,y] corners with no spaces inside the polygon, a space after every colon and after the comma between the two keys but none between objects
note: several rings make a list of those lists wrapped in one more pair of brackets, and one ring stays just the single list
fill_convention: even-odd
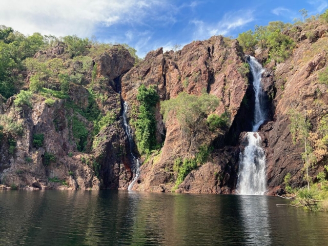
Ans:
[{"label": "slender pale-trunked tree with sparse leaves on the right bank", "polygon": [[308,190],[310,190],[309,166],[316,162],[316,158],[313,155],[313,150],[308,142],[311,124],[309,119],[306,118],[306,115],[298,112],[295,109],[290,109],[288,114],[291,121],[289,128],[293,136],[294,144],[296,143],[296,140],[300,140],[304,145],[305,151],[302,153],[302,159],[305,161],[305,178],[308,182]]}]

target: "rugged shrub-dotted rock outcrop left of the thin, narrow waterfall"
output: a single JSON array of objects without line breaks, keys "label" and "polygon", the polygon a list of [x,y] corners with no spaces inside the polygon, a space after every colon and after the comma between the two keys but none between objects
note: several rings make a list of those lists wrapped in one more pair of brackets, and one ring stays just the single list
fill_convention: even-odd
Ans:
[{"label": "rugged shrub-dotted rock outcrop left of the thin, narrow waterfall", "polygon": [[[66,48],[59,42],[34,57],[63,58]],[[68,98],[54,98],[51,105],[40,94],[33,95],[32,107],[17,108],[13,105],[15,97],[9,98],[6,104],[0,98],[1,124],[23,127],[22,134],[11,131],[1,135],[2,185],[14,189],[127,189],[133,161],[126,154],[129,146],[119,119],[118,81],[113,79],[130,70],[134,58],[124,47],[114,46],[96,59],[96,63],[99,79],[91,78],[91,68],[83,74],[83,85],[71,84]],[[81,64],[67,66],[75,71]],[[91,82],[92,90],[88,90]],[[93,138],[92,120],[97,112],[100,116],[112,112],[116,120]],[[74,125],[74,121],[79,124]],[[84,142],[78,135],[80,131],[87,131]],[[35,146],[35,134],[43,134],[42,146]],[[79,144],[85,145],[84,153],[77,150]]]}]

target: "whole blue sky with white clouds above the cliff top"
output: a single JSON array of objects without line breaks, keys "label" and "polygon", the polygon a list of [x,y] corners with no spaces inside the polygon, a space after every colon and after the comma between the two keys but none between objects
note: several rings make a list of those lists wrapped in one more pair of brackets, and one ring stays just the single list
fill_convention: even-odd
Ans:
[{"label": "whole blue sky with white clouds above the cliff top", "polygon": [[24,34],[95,35],[101,42],[127,43],[143,57],[212,35],[236,37],[273,20],[292,22],[303,8],[322,13],[327,1],[1,0],[0,25]]}]

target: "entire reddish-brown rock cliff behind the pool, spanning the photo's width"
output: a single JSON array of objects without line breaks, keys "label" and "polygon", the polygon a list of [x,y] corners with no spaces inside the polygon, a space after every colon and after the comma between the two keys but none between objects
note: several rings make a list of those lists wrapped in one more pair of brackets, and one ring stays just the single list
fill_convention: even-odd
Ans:
[{"label": "entire reddish-brown rock cliff behind the pool, spanning the photo's width", "polygon": [[[288,173],[295,186],[304,185],[303,149],[293,144],[288,110],[305,110],[313,132],[322,115],[328,113],[327,86],[318,82],[318,73],[327,66],[328,27],[315,23],[314,36],[309,38],[301,28],[296,30],[285,33],[296,42],[291,57],[279,64],[271,60],[262,74],[269,120],[259,134],[267,158],[268,194],[283,192],[283,178]],[[66,69],[76,75],[87,63],[67,59],[66,49],[59,42],[54,48],[37,52],[34,59],[62,59]],[[259,48],[253,55],[262,63],[268,60],[267,50]],[[79,83],[71,84],[67,96],[50,96],[53,104],[47,103],[47,90],[33,94],[31,107],[17,108],[15,96],[7,101],[1,97],[1,124],[8,129],[17,124],[23,127],[21,134],[16,129],[1,135],[1,183],[21,189],[128,189],[136,167],[122,127],[122,105],[127,102],[128,118],[133,120],[133,109],[139,107],[138,88],[143,84],[155,86],[159,101],[176,98],[181,92],[197,96],[207,92],[220,100],[215,113],[228,112],[229,120],[222,129],[210,131],[203,125],[197,134],[190,135],[183,131],[174,112],[163,122],[158,103],[154,114],[161,149],[149,156],[139,154],[140,177],[132,189],[234,193],[242,132],[251,131],[253,116],[252,78],[244,69],[246,62],[238,41],[222,36],[193,42],[176,52],[159,48],[137,65],[127,49],[113,46],[87,64],[89,68]],[[26,85],[30,77],[25,75]],[[102,117],[107,121],[96,132],[96,122],[103,122]],[[36,134],[43,134],[42,146],[35,145]],[[206,163],[173,189],[175,161],[194,158],[200,146],[213,147]],[[137,148],[132,152],[137,154]],[[311,175],[315,177],[325,164],[326,157],[321,158],[311,168]]]}]

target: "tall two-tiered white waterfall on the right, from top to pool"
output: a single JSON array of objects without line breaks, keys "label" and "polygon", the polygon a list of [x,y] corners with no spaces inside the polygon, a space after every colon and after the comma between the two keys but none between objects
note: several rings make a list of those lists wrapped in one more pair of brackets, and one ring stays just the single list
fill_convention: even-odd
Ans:
[{"label": "tall two-tiered white waterfall on the right, from top to pool", "polygon": [[240,153],[237,193],[248,195],[263,195],[267,190],[265,177],[265,153],[261,148],[261,137],[256,132],[267,119],[265,112],[264,91],[261,87],[261,77],[264,69],[255,57],[249,57],[249,65],[253,75],[255,94],[253,132],[247,133],[248,145]]}]

